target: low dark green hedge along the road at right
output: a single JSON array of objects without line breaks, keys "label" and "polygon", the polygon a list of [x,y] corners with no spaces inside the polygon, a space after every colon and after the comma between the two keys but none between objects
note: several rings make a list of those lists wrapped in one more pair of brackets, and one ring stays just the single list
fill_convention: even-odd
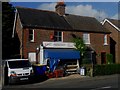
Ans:
[{"label": "low dark green hedge along the road at right", "polygon": [[94,76],[120,74],[120,64],[94,65]]}]

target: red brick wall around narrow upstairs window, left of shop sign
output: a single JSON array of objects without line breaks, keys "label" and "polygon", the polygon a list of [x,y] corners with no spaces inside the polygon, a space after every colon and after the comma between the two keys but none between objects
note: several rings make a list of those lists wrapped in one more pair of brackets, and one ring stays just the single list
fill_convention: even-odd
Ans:
[{"label": "red brick wall around narrow upstairs window, left of shop sign", "polygon": [[28,58],[28,52],[36,52],[36,48],[42,44],[43,41],[52,41],[50,40],[50,35],[53,34],[53,31],[44,30],[44,29],[34,29],[34,42],[29,41],[29,29],[24,29],[24,58]]}]

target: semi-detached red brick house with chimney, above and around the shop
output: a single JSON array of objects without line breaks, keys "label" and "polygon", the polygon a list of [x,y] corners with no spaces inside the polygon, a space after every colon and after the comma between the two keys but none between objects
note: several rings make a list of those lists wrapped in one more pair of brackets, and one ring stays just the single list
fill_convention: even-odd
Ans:
[{"label": "semi-detached red brick house with chimney, above and around the shop", "polygon": [[19,37],[21,58],[32,58],[36,62],[36,58],[40,58],[36,56],[37,49],[43,42],[70,43],[73,36],[78,36],[96,53],[97,64],[106,63],[110,32],[94,17],[66,14],[65,7],[63,2],[57,3],[56,11],[16,7],[13,36]]}]

